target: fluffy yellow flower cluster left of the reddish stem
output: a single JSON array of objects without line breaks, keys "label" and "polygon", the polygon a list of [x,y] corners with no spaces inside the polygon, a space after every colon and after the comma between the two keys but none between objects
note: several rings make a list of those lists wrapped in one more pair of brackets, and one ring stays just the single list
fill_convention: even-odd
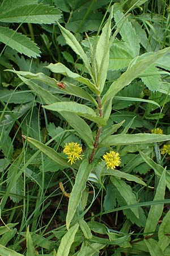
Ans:
[{"label": "fluffy yellow flower cluster left of the reddish stem", "polygon": [[66,143],[63,149],[63,153],[67,155],[71,164],[75,163],[76,160],[82,159],[82,147],[76,142]]}]

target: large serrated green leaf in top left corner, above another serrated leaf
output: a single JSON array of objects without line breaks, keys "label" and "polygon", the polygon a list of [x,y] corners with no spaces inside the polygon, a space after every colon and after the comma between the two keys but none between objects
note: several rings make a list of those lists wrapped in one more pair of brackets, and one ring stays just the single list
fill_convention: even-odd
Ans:
[{"label": "large serrated green leaf in top left corner, above another serrated leaf", "polygon": [[1,22],[22,22],[22,23],[55,23],[61,18],[61,11],[54,6],[35,5],[19,6],[15,9],[8,9],[0,14]]}]

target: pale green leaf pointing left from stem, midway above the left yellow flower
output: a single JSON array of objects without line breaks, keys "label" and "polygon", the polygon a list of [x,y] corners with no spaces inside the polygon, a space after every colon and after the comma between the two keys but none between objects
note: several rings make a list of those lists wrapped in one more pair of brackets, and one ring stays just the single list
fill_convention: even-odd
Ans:
[{"label": "pale green leaf pointing left from stem, midway above the left yellow flower", "polygon": [[84,118],[87,118],[91,121],[98,123],[101,126],[106,125],[106,122],[103,118],[96,115],[95,111],[86,105],[82,105],[76,102],[56,102],[51,105],[42,106],[45,109],[62,112],[71,112],[78,114]]}]

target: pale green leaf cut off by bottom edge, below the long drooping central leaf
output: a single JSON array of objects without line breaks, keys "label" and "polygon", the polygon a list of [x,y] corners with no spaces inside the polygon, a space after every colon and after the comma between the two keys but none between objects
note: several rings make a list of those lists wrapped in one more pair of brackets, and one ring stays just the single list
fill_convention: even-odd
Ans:
[{"label": "pale green leaf cut off by bottom edge, below the long drooping central leaf", "polygon": [[61,243],[58,247],[57,256],[68,256],[70,252],[70,247],[74,242],[74,237],[76,232],[78,231],[79,224],[76,223],[72,226],[67,233],[62,237]]}]

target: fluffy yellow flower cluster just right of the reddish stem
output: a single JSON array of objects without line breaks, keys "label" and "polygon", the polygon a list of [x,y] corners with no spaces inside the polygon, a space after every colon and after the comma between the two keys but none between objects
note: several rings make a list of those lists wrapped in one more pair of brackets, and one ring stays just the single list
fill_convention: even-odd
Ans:
[{"label": "fluffy yellow flower cluster just right of the reddish stem", "polygon": [[106,162],[107,169],[115,169],[121,163],[119,154],[113,150],[103,155],[103,159]]}]

